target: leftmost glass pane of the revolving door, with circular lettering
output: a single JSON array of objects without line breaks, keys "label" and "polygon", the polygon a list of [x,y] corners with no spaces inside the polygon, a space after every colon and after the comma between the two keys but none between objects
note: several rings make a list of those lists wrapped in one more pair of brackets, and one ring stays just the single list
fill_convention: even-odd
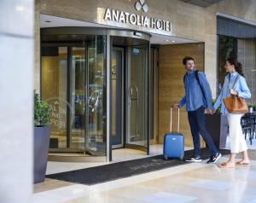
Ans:
[{"label": "leftmost glass pane of the revolving door, with circular lettering", "polygon": [[54,148],[67,147],[67,47],[42,51],[42,99],[49,102]]}]

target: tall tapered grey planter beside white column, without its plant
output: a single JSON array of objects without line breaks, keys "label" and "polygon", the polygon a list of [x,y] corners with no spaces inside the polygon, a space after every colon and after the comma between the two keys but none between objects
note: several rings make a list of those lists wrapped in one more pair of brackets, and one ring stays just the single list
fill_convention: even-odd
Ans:
[{"label": "tall tapered grey planter beside white column, without its plant", "polygon": [[34,127],[34,183],[44,182],[48,150],[49,126]]}]

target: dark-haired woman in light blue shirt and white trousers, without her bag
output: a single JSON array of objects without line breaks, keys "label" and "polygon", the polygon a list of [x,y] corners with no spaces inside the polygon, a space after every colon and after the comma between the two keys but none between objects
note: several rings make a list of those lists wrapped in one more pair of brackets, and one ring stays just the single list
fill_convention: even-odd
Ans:
[{"label": "dark-haired woman in light blue shirt and white trousers, without her bag", "polygon": [[[251,97],[251,92],[247,87],[244,74],[242,72],[241,63],[235,58],[229,58],[224,66],[227,73],[224,79],[224,85],[214,104],[214,109],[218,109],[221,105],[221,113],[227,114],[229,120],[229,135],[230,135],[230,159],[218,165],[221,168],[232,168],[237,165],[250,165],[250,160],[247,154],[247,143],[241,131],[241,116],[243,114],[229,113],[224,106],[223,99],[230,95],[238,95],[248,99]],[[232,88],[233,87],[233,88]],[[235,163],[236,154],[242,153],[242,159]]]}]

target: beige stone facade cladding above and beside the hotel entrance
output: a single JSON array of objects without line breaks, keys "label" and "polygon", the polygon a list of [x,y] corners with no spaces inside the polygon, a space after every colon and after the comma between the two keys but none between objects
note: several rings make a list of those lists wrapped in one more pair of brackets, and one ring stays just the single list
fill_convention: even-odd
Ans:
[{"label": "beige stone facade cladding above and beside the hotel entrance", "polygon": [[[39,9],[41,14],[49,14],[73,20],[97,22],[98,8],[120,9],[137,14],[134,9],[136,0],[38,1],[40,2]],[[223,0],[207,9],[179,0],[148,0],[146,2],[149,7],[147,15],[149,17],[172,21],[172,30],[175,36],[205,42],[205,72],[212,86],[212,95],[216,96],[216,14],[230,14],[242,19],[256,21],[256,1]],[[37,20],[38,16],[36,15]],[[36,42],[38,40],[39,38],[36,38]],[[36,55],[38,55],[38,48],[36,47],[35,49]],[[36,57],[36,60],[39,61],[39,58]],[[37,66],[38,63],[36,62]],[[36,84],[38,83],[36,82]]]}]

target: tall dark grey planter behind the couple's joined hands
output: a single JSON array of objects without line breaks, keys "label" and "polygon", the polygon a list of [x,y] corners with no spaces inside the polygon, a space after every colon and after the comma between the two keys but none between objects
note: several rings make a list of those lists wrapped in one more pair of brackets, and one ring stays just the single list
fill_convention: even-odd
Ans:
[{"label": "tall dark grey planter behind the couple's joined hands", "polygon": [[[212,103],[215,101],[212,100]],[[206,114],[207,130],[217,148],[225,148],[229,133],[229,122],[226,115],[220,113],[220,107],[214,114]]]}]

